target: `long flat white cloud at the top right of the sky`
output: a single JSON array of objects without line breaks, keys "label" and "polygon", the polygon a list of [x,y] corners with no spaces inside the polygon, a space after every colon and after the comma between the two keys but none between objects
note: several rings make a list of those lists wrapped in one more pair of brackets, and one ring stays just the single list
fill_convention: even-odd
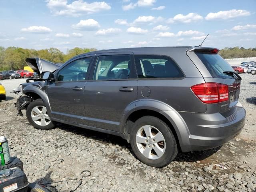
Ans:
[{"label": "long flat white cloud at the top right of the sky", "polygon": [[209,13],[205,19],[206,20],[213,20],[213,19],[231,19],[235,17],[240,17],[240,16],[249,16],[250,12],[246,10],[228,10],[228,11],[219,11],[217,13]]}]

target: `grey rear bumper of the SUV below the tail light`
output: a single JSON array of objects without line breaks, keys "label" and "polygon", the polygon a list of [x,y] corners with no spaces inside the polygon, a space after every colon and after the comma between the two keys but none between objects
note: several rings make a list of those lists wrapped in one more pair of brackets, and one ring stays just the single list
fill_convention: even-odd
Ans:
[{"label": "grey rear bumper of the SUV below the tail light", "polygon": [[[236,106],[235,112],[224,118],[216,114],[186,114],[182,112],[188,126],[188,139],[180,144],[183,152],[206,150],[221,146],[238,135],[245,124],[246,111]],[[192,119],[191,119],[192,118]]]}]

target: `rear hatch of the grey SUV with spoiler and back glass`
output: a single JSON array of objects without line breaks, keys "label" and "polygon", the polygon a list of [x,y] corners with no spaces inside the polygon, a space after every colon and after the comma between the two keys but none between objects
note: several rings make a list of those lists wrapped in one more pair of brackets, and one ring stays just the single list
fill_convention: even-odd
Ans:
[{"label": "rear hatch of the grey SUV with spoiler and back glass", "polygon": [[[217,83],[228,86],[228,97],[225,101],[215,103],[219,112],[224,116],[230,116],[236,110],[240,94],[241,77],[219,54],[215,48],[190,48],[188,56],[192,59],[201,72],[206,83]],[[189,53],[190,52],[190,53]],[[191,53],[193,52],[193,53]],[[210,104],[211,105],[211,104]],[[209,107],[210,108],[210,107]]]}]

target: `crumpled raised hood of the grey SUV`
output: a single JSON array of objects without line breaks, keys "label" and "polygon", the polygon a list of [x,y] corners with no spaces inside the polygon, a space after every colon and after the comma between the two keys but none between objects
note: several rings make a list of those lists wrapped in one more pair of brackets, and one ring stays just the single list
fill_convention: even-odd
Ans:
[{"label": "crumpled raised hood of the grey SUV", "polygon": [[60,67],[60,64],[55,64],[41,58],[26,58],[26,63],[38,75],[40,75],[44,71],[54,72]]}]

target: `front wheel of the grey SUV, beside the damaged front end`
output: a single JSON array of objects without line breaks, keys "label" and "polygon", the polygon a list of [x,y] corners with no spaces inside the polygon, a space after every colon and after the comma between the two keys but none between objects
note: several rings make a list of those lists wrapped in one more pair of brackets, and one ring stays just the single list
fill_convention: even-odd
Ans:
[{"label": "front wheel of the grey SUV, beside the damaged front end", "polygon": [[48,130],[54,128],[42,99],[34,100],[28,105],[26,116],[30,124],[36,129]]}]

